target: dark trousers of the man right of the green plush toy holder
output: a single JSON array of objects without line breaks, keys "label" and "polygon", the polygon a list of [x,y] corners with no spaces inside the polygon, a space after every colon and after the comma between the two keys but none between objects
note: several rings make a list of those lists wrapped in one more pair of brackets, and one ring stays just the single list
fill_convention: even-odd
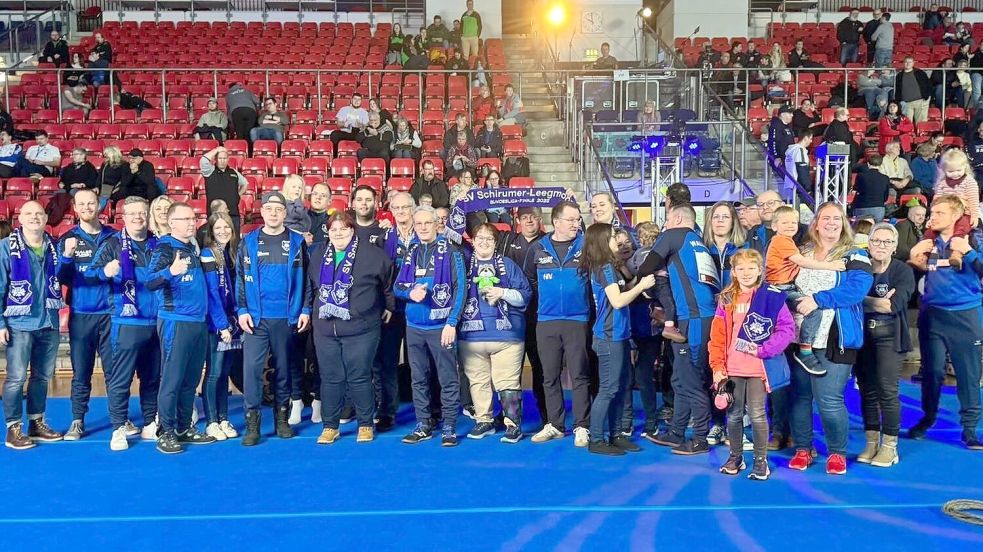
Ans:
[{"label": "dark trousers of the man right of the green plush toy holder", "polygon": [[536,326],[539,358],[543,363],[543,392],[546,396],[548,421],[560,431],[566,430],[566,407],[560,372],[566,366],[573,378],[573,426],[590,427],[591,377],[587,358],[589,346],[587,322],[550,320]]}]

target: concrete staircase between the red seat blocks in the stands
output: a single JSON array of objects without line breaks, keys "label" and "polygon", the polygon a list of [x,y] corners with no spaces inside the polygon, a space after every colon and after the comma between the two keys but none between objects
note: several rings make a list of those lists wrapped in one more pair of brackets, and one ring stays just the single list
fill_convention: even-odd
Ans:
[{"label": "concrete staircase between the red seat blocks in the stands", "polygon": [[[588,214],[584,183],[566,142],[563,121],[559,120],[556,104],[542,76],[535,39],[525,35],[505,35],[502,43],[509,70],[522,73],[521,80],[513,73],[512,83],[525,109],[529,176],[537,186],[573,188],[581,211]],[[549,222],[548,216],[544,216],[544,222]]]}]

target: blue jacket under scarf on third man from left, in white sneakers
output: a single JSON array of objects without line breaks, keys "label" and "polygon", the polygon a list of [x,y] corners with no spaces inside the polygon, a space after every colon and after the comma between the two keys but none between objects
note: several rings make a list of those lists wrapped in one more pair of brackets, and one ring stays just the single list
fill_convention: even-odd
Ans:
[{"label": "blue jacket under scarf on third man from left, in white sneakers", "polygon": [[109,282],[110,293],[109,303],[113,315],[113,324],[123,324],[125,326],[153,326],[157,323],[157,295],[147,289],[147,281],[150,280],[150,257],[153,248],[150,247],[152,240],[149,237],[143,243],[132,241],[133,265],[136,271],[136,316],[122,316],[123,312],[123,275],[122,273],[107,278],[103,268],[110,262],[119,260],[122,253],[120,242],[120,232],[106,238],[102,246],[96,251],[96,258],[92,261],[88,272],[95,272],[95,276],[102,281]]}]

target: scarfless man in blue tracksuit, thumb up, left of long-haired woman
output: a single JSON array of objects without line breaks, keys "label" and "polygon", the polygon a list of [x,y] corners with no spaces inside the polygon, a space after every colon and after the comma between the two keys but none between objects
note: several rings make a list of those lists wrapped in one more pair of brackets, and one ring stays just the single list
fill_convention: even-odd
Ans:
[{"label": "scarfless man in blue tracksuit, thumb up, left of long-haired woman", "polygon": [[171,205],[167,225],[171,233],[154,249],[147,289],[157,294],[157,331],[163,352],[157,450],[175,454],[184,450],[184,444],[216,440],[191,424],[191,410],[208,351],[206,317],[209,309],[216,312],[223,306],[209,301],[205,269],[195,242],[194,210],[186,203]]}]

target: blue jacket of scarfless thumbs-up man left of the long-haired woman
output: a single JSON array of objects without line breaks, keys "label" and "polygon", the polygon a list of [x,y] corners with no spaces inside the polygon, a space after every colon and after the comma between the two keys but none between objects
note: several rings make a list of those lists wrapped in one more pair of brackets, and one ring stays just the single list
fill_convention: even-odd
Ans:
[{"label": "blue jacket of scarfless thumbs-up man left of the long-haired woman", "polygon": [[[190,259],[184,274],[171,274],[171,263],[180,255]],[[150,259],[150,280],[147,289],[156,292],[161,320],[178,322],[204,322],[208,314],[208,286],[205,270],[194,242],[184,243],[172,236],[164,236],[154,249]]]}]

